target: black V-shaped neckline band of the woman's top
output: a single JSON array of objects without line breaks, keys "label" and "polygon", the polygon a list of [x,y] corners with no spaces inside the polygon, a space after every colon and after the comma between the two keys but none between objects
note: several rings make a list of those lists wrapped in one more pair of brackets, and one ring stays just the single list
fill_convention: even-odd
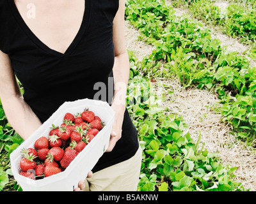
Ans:
[{"label": "black V-shaped neckline band of the woman's top", "polygon": [[[0,0],[1,1],[1,0]],[[41,41],[34,33],[31,31],[31,29],[28,27],[22,16],[20,15],[20,12],[14,2],[14,0],[8,0],[10,2],[10,6],[12,8],[13,14],[15,15],[15,18],[19,22],[20,26],[22,27],[23,31],[28,35],[28,37],[40,48],[42,48],[45,52],[49,52],[50,54],[63,57],[65,55],[70,54],[73,52],[74,48],[76,48],[77,44],[79,41],[82,39],[84,32],[86,31],[86,27],[88,25],[88,18],[90,15],[90,0],[84,0],[84,15],[83,15],[83,20],[81,22],[81,26],[79,27],[79,30],[72,41],[70,45],[68,46],[67,50],[62,53],[57,50],[54,50],[47,45],[43,41]]]}]

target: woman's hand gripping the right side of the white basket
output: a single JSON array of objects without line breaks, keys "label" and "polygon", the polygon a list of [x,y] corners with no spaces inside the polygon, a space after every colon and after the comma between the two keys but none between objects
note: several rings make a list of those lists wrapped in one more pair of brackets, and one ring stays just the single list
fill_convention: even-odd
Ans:
[{"label": "woman's hand gripping the right side of the white basket", "polygon": [[124,121],[125,105],[113,103],[111,105],[115,112],[115,120],[110,135],[109,146],[106,152],[111,152],[116,145],[116,142],[120,140],[122,136],[122,124]]}]

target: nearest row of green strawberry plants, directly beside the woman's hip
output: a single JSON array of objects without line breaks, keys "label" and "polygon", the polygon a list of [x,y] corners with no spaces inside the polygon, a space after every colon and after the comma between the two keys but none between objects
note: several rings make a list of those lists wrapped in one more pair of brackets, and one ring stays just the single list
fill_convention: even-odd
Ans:
[{"label": "nearest row of green strawberry plants, directly beside the woman's hip", "polygon": [[[130,55],[136,70],[140,64]],[[198,147],[200,136],[194,142],[184,119],[161,106],[148,78],[133,74],[127,96],[143,149],[138,191],[244,191],[234,182],[236,168],[223,167],[216,154]]]}]

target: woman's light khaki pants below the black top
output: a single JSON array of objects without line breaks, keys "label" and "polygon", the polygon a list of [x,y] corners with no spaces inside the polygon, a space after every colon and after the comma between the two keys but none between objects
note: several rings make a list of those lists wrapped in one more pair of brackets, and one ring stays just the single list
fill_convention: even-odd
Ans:
[{"label": "woman's light khaki pants below the black top", "polygon": [[83,191],[136,191],[140,178],[142,150],[121,163],[93,173]]}]

